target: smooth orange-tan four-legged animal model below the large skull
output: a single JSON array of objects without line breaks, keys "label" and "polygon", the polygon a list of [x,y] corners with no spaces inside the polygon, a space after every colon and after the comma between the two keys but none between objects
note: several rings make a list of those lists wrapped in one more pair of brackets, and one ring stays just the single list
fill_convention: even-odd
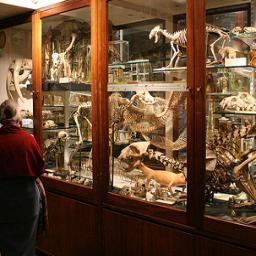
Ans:
[{"label": "smooth orange-tan four-legged animal model below the large skull", "polygon": [[143,164],[140,160],[136,161],[133,167],[140,169],[147,177],[146,185],[148,185],[151,180],[154,180],[160,185],[167,186],[170,192],[172,192],[173,186],[186,185],[186,178],[183,173],[153,170]]}]

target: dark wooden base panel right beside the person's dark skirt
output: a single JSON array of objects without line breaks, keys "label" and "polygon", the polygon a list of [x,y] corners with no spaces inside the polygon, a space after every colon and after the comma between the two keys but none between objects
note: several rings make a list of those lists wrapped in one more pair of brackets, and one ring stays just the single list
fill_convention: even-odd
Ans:
[{"label": "dark wooden base panel right beside the person's dark skirt", "polygon": [[39,249],[55,256],[99,255],[96,207],[47,193],[49,233]]}]

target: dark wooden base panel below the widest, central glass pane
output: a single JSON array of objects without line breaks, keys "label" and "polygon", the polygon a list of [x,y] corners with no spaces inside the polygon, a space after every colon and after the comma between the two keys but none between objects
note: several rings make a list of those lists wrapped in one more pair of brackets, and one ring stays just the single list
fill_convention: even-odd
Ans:
[{"label": "dark wooden base panel below the widest, central glass pane", "polygon": [[103,211],[106,256],[193,256],[194,237],[144,220]]}]

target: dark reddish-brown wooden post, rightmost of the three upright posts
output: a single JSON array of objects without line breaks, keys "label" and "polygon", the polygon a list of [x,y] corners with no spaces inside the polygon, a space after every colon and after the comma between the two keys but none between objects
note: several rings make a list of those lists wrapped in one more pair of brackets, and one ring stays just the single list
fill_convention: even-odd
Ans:
[{"label": "dark reddish-brown wooden post, rightmost of the three upright posts", "polygon": [[[192,141],[188,158],[188,222],[201,229],[204,214],[204,172],[205,172],[205,1],[195,0],[187,3],[188,29],[188,108],[191,114],[188,119],[193,124],[188,133]],[[200,49],[200,50],[198,50]],[[191,158],[192,157],[192,158]]]}]

